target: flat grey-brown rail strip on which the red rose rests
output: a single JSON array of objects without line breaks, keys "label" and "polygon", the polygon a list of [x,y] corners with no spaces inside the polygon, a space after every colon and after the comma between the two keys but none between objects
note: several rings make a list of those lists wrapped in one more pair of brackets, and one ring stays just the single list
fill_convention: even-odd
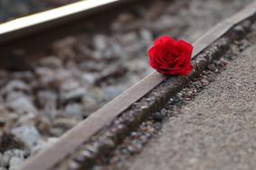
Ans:
[{"label": "flat grey-brown rail strip on which the red rose rests", "polygon": [[[228,30],[235,25],[251,18],[256,14],[256,1],[247,5],[241,12],[234,14],[229,19],[216,24],[208,30],[201,38],[193,43],[194,51],[192,58],[199,55],[206,47],[209,47],[217,38],[221,38]],[[115,118],[122,114],[129,106],[138,99],[143,98],[148,92],[166,80],[167,77],[153,72],[145,79],[137,82],[133,87],[123,92],[119,97],[111,100],[82,123],[79,123],[70,131],[66,132],[60,140],[49,149],[44,149],[35,157],[31,157],[22,166],[22,170],[49,170],[57,165],[62,159],[75,151],[85,141],[89,140],[93,134],[100,132],[108,126]]]}]

